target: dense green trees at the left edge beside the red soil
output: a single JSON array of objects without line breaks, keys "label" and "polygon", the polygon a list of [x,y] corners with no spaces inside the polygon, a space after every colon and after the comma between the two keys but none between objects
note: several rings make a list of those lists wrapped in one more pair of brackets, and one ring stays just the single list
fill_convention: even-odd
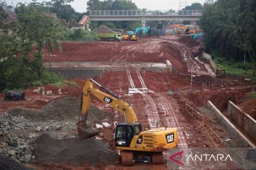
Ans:
[{"label": "dense green trees at the left edge beside the red soil", "polygon": [[12,31],[4,30],[0,36],[0,91],[23,89],[35,81],[53,82],[48,81],[47,75],[54,74],[46,72],[42,56],[43,47],[49,52],[55,49],[58,21],[33,4],[22,4],[17,17]]}]

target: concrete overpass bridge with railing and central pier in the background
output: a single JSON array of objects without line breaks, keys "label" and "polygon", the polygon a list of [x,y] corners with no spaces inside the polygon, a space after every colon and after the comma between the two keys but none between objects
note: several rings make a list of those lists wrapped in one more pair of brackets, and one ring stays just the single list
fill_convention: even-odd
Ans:
[{"label": "concrete overpass bridge with railing and central pier in the background", "polygon": [[90,11],[90,21],[141,21],[146,26],[146,21],[199,21],[202,13],[201,10],[102,10]]}]

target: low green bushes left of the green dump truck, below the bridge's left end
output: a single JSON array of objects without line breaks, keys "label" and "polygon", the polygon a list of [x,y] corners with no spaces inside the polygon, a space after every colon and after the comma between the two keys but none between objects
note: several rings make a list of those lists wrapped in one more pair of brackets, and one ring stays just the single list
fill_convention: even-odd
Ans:
[{"label": "low green bushes left of the green dump truck, below the bridge's left end", "polygon": [[87,30],[68,30],[67,40],[84,40],[92,41],[97,40],[97,35],[95,33],[89,32]]}]

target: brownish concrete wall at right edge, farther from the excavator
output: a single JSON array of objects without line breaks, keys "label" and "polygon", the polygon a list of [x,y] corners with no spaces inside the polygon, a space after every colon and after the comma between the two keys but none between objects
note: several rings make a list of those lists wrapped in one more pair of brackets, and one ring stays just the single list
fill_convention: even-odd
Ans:
[{"label": "brownish concrete wall at right edge, farther from the excavator", "polygon": [[256,142],[256,120],[243,113],[232,101],[228,101],[228,115],[245,133]]}]

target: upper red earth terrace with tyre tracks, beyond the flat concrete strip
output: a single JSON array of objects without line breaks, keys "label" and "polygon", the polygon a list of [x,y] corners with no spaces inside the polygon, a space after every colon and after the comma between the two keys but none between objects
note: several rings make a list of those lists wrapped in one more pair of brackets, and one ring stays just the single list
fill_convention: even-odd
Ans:
[{"label": "upper red earth terrace with tyre tracks, beyond the flat concrete strip", "polygon": [[[174,69],[183,74],[191,71],[196,74],[213,74],[194,58],[201,55],[201,44],[187,36],[142,38],[137,42],[63,42],[61,45],[63,52],[51,55],[53,67],[58,64],[56,62],[107,62],[114,65],[125,62],[165,63],[169,60]],[[44,54],[43,60],[48,62],[46,51]]]}]

